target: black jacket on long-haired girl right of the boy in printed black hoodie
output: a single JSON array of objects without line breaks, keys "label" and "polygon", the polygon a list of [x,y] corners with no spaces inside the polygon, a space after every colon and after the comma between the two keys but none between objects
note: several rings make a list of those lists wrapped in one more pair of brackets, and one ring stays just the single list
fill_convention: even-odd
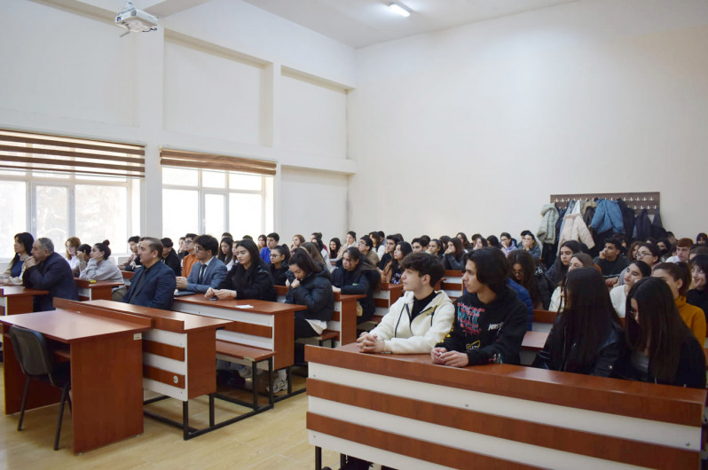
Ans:
[{"label": "black jacket on long-haired girl right of the boy in printed black hoodie", "polygon": [[621,325],[615,322],[610,323],[609,332],[598,346],[593,364],[579,364],[577,344],[570,346],[570,350],[566,350],[564,347],[565,332],[562,326],[562,314],[558,315],[551,333],[548,334],[546,345],[536,355],[533,366],[552,371],[583,373],[598,377],[616,375],[619,360],[625,349],[625,332]]}]

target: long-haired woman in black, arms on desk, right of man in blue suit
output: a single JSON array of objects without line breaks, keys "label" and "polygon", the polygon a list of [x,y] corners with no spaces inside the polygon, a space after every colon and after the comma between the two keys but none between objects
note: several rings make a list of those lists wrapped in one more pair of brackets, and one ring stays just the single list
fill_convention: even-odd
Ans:
[{"label": "long-haired woman in black, arms on desk, right of man in blue suit", "polygon": [[[271,254],[276,247],[271,249]],[[280,248],[279,248],[280,249]],[[224,299],[257,299],[275,302],[278,298],[273,288],[271,270],[258,254],[253,240],[245,239],[236,243],[236,258],[228,275],[216,286],[205,290],[205,297],[216,296]]]}]

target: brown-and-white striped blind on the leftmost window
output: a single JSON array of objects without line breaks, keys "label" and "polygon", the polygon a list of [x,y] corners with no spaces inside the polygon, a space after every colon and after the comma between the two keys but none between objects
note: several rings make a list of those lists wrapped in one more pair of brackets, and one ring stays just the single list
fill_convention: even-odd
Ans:
[{"label": "brown-and-white striped blind on the leftmost window", "polygon": [[0,129],[0,168],[145,177],[145,147]]}]

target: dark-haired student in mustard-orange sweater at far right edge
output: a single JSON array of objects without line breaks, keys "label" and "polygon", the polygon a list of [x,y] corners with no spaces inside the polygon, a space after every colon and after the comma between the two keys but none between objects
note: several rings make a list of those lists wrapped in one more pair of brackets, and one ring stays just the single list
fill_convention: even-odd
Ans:
[{"label": "dark-haired student in mustard-orange sweater at far right edge", "polygon": [[652,278],[660,278],[671,289],[676,309],[684,323],[701,344],[705,341],[705,314],[702,309],[686,302],[686,292],[691,284],[691,271],[685,262],[660,262],[651,273]]}]

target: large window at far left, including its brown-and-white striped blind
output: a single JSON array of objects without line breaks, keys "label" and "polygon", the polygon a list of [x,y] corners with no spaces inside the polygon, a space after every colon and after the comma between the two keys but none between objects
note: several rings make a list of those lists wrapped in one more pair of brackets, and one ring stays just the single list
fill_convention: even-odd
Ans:
[{"label": "large window at far left, including its brown-and-white striped blind", "polygon": [[[68,237],[90,245],[108,239],[127,252],[144,175],[143,147],[0,130],[0,260],[12,258],[12,237],[47,237],[58,253]],[[138,209],[139,210],[139,209]]]}]

